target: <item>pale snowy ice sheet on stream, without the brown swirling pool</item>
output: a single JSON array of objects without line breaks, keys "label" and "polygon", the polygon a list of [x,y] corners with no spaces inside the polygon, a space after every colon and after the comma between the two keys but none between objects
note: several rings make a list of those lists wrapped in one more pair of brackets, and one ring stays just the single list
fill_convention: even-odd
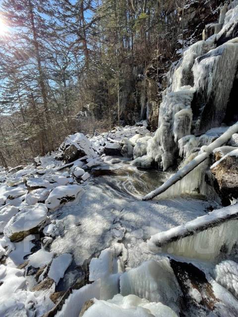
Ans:
[{"label": "pale snowy ice sheet on stream, without the brown swirling pool", "polygon": [[[118,241],[125,231],[123,241],[129,251],[128,261],[134,267],[143,262],[144,239],[203,215],[211,204],[192,198],[147,203],[123,197],[107,184],[87,186],[79,200],[51,215],[51,219],[61,219],[64,226],[64,235],[54,240],[51,251],[73,254],[77,265]],[[122,236],[121,228],[125,229]]]}]

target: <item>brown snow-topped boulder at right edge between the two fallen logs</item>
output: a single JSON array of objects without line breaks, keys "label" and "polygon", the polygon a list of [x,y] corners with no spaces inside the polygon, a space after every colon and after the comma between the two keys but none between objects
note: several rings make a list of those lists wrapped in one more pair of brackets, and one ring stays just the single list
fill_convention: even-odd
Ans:
[{"label": "brown snow-topped boulder at right edge between the two fallen logs", "polygon": [[238,150],[232,151],[211,166],[222,196],[238,198]]}]

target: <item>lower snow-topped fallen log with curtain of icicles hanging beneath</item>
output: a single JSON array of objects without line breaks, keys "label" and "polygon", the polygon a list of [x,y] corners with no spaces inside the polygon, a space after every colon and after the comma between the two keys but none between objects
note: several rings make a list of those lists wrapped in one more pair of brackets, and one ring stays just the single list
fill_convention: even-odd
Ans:
[{"label": "lower snow-topped fallen log with curtain of icicles hanging beneath", "polygon": [[147,244],[154,252],[218,261],[221,251],[229,254],[238,241],[237,212],[237,205],[212,211],[152,236]]}]

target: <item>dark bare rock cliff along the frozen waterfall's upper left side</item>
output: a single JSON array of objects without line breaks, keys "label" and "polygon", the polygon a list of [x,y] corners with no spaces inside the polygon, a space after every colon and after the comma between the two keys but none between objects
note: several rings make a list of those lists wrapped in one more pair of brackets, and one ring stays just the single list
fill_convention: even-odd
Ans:
[{"label": "dark bare rock cliff along the frozen waterfall's upper left side", "polygon": [[220,6],[223,3],[225,3],[224,0],[185,1],[183,12],[182,10],[179,12],[180,18],[183,20],[184,31],[183,34],[180,34],[178,51],[175,52],[172,59],[169,59],[165,52],[164,54],[155,57],[150,62],[146,71],[145,80],[147,87],[147,111],[149,113],[147,119],[152,130],[156,130],[158,127],[159,106],[162,102],[162,92],[167,86],[170,86],[170,83],[167,84],[167,72],[169,71],[171,64],[178,59],[183,48],[185,49],[202,39],[204,33],[203,30],[206,29],[206,26],[206,32],[212,32],[212,34],[214,34],[214,30],[211,31],[211,27],[208,27],[208,25],[214,25],[214,22],[218,20]]}]

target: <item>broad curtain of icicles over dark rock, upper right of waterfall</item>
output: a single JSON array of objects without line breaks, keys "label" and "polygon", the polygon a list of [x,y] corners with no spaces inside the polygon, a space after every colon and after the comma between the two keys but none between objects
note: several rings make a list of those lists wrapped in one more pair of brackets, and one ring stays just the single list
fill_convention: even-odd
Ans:
[{"label": "broad curtain of icicles over dark rock, upper right of waterfall", "polygon": [[[238,44],[231,42],[196,58],[192,71],[198,98],[194,106],[201,109],[198,115],[200,125],[195,131],[196,134],[219,126],[223,121],[237,65]],[[201,103],[204,106],[200,107]]]}]

